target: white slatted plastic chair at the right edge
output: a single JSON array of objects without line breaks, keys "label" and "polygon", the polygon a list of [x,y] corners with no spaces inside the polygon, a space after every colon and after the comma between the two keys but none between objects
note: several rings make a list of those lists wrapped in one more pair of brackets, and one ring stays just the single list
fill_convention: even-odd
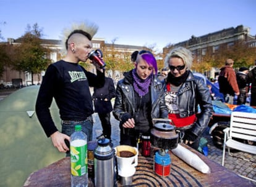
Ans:
[{"label": "white slatted plastic chair at the right edge", "polygon": [[[256,114],[255,113],[244,113],[234,111],[231,113],[230,127],[223,130],[224,132],[224,143],[223,143],[223,157],[222,165],[224,165],[226,147],[228,148],[228,153],[230,154],[230,148],[237,149],[239,151],[244,151],[250,154],[256,154],[256,146],[249,145],[247,143],[242,143],[240,141],[234,140],[234,138],[239,138],[247,142],[256,141]],[[241,176],[244,177],[244,176]],[[247,178],[247,177],[244,177]],[[252,180],[250,178],[247,178]],[[252,180],[255,181],[255,180]]]}]

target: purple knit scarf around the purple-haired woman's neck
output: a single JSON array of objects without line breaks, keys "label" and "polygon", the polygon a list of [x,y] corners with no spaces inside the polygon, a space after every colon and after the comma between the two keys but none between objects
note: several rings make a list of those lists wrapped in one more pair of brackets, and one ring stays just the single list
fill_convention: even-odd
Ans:
[{"label": "purple knit scarf around the purple-haired woman's neck", "polygon": [[147,79],[140,79],[136,73],[136,69],[132,70],[132,76],[134,78],[134,90],[139,94],[140,97],[148,94],[148,87],[151,83],[153,74],[150,74]]}]

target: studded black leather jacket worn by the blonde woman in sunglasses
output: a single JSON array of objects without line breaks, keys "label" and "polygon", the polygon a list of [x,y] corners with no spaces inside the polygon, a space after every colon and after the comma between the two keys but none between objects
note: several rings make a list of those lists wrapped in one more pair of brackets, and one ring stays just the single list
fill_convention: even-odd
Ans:
[{"label": "studded black leather jacket worn by the blonde woman in sunglasses", "polygon": [[[165,91],[167,91],[165,87]],[[189,73],[186,81],[180,87],[178,93],[178,108],[181,117],[197,114],[197,121],[192,126],[192,132],[200,136],[210,122],[213,114],[211,95],[203,79]],[[198,111],[198,105],[200,111]]]}]

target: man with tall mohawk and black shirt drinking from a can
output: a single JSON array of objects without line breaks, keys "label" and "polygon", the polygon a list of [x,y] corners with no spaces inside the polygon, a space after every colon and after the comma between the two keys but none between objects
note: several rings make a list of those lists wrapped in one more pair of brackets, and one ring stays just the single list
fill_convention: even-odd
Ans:
[{"label": "man with tall mohawk and black shirt drinking from a can", "polygon": [[[48,66],[36,99],[36,115],[46,136],[51,137],[54,147],[69,156],[70,135],[75,125],[82,125],[82,131],[92,140],[93,103],[89,87],[103,87],[105,72],[96,63],[96,74],[79,65],[86,62],[92,50],[92,38],[98,26],[82,23],[64,30],[62,44],[66,56]],[[61,117],[62,130],[59,132],[53,122],[49,107],[56,101]]]}]

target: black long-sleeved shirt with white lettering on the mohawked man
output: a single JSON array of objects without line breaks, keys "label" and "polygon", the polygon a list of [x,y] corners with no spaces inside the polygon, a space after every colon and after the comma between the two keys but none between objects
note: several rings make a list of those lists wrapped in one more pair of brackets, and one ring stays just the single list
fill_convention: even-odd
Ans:
[{"label": "black long-sleeved shirt with white lettering on the mohawked man", "polygon": [[36,100],[36,114],[46,135],[58,130],[49,112],[53,98],[62,120],[82,121],[93,113],[89,86],[101,87],[104,82],[104,73],[97,71],[96,76],[77,63],[60,60],[49,65]]}]

